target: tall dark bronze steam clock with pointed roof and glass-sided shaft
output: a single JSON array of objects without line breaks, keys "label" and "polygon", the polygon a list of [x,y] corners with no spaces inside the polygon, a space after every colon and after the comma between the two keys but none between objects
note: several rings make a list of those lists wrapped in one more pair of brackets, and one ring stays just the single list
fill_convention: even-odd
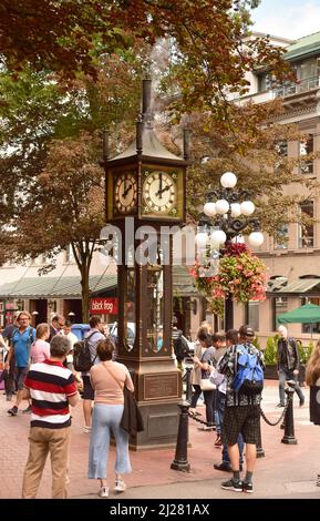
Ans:
[{"label": "tall dark bronze steam clock with pointed roof and glass-sided shaft", "polygon": [[[144,80],[135,142],[113,159],[104,146],[106,221],[121,231],[117,360],[133,376],[145,425],[131,439],[135,450],[175,445],[180,400],[180,371],[172,349],[169,228],[185,221],[188,136],[185,131],[184,159],[166,150],[153,131],[149,106],[151,80]],[[153,242],[146,256],[147,234]]]}]

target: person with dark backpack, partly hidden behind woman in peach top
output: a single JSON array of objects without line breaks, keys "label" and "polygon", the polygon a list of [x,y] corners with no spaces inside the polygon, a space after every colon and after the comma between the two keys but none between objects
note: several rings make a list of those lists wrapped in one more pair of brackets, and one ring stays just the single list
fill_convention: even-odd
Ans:
[{"label": "person with dark backpack, partly hidden behind woman in peach top", "polygon": [[[100,340],[104,340],[105,336],[103,334],[103,325],[101,323],[101,318],[97,315],[94,315],[89,320],[90,329],[85,335],[85,338],[89,343],[89,349],[91,355],[91,361],[93,364],[99,362],[99,358],[96,356],[96,346]],[[91,432],[91,419],[92,419],[92,401],[94,400],[94,390],[91,385],[90,380],[90,371],[82,372],[82,381],[83,381],[83,400],[82,400],[82,408],[83,408],[83,416],[84,416],[84,429],[83,431],[87,435]]]}]

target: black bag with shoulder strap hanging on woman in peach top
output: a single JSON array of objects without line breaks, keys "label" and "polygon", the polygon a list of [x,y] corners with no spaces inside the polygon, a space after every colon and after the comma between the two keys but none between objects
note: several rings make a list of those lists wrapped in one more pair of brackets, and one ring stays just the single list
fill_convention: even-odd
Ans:
[{"label": "black bag with shoulder strap hanging on woman in peach top", "polygon": [[[103,367],[122,389],[122,386],[115,376],[107,369],[107,367],[105,367],[104,364]],[[137,432],[142,432],[144,430],[143,417],[135,400],[134,392],[132,392],[126,386],[123,388],[123,415],[120,421],[120,427],[130,436],[136,436]]]}]

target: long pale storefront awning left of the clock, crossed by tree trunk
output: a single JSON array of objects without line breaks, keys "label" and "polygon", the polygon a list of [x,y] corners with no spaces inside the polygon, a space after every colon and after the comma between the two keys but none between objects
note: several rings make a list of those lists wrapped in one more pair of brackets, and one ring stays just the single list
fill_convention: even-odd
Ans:
[{"label": "long pale storefront awning left of the clock, crossed by tree trunk", "polygon": [[[116,275],[90,277],[90,290],[116,288]],[[81,298],[80,277],[23,277],[0,286],[0,298]]]}]

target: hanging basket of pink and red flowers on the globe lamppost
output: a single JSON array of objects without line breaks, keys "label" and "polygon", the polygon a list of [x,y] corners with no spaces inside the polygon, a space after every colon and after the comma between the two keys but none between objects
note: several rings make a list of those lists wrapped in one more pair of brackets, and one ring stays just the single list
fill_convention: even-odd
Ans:
[{"label": "hanging basket of pink and red flowers on the globe lamppost", "polygon": [[[213,313],[223,315],[224,300],[237,303],[266,298],[266,265],[246,244],[229,244],[223,251],[216,273],[211,268],[213,252],[208,249],[190,269],[194,284],[204,295]],[[208,276],[206,276],[206,274]]]}]

